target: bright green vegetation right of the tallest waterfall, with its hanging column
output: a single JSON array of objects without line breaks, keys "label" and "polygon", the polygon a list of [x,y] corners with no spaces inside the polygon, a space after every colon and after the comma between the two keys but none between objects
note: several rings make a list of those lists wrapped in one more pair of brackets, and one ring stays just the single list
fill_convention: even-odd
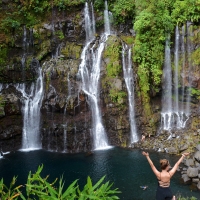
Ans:
[{"label": "bright green vegetation right of the tallest waterfall, with its hanging column", "polygon": [[[161,89],[164,63],[165,40],[173,35],[175,26],[186,21],[194,24],[200,19],[199,0],[113,0],[109,1],[116,23],[132,19],[136,32],[134,42],[134,62],[138,66],[139,88],[146,114],[151,113],[150,94]],[[197,29],[198,30],[198,29]],[[198,32],[198,31],[197,31]],[[199,41],[199,34],[195,35]],[[172,44],[173,45],[173,44]],[[199,48],[191,55],[193,63],[199,65]]]}]

